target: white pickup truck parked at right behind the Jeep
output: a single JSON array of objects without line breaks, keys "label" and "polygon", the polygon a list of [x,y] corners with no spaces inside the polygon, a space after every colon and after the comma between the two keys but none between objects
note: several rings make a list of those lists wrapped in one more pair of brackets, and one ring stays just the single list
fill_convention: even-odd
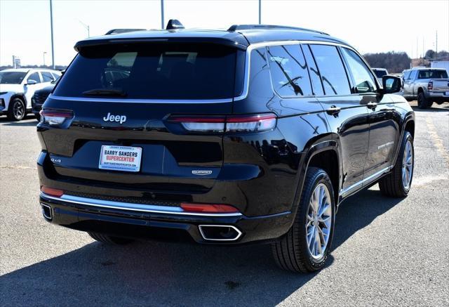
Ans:
[{"label": "white pickup truck parked at right behind the Jeep", "polygon": [[443,68],[417,68],[404,79],[403,96],[418,100],[418,107],[425,109],[432,103],[449,103],[448,72]]}]

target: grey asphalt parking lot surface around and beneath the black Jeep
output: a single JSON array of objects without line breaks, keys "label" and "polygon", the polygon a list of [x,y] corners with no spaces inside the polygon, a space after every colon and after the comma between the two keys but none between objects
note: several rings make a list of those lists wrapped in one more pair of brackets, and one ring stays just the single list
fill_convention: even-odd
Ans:
[{"label": "grey asphalt parking lot surface around and beneath the black Jeep", "polygon": [[112,247],[46,223],[36,120],[0,117],[0,305],[449,306],[449,105],[414,109],[409,196],[375,185],[346,200],[328,265],[309,275],[279,270],[267,245]]}]

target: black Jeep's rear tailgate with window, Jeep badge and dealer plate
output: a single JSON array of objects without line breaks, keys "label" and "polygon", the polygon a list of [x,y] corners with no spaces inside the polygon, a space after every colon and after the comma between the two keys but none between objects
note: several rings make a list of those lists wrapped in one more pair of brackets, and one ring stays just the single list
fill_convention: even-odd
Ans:
[{"label": "black Jeep's rear tailgate with window, Jeep badge and dealer plate", "polygon": [[[236,78],[241,53],[200,43],[81,49],[43,105],[44,112],[73,115],[57,126],[43,118],[38,126],[51,159],[47,176],[99,192],[207,192],[222,167],[222,133],[191,133],[167,118],[231,114],[232,97],[241,90],[236,86],[241,84]],[[105,146],[138,152],[140,165],[102,167],[102,159],[116,159]]]}]

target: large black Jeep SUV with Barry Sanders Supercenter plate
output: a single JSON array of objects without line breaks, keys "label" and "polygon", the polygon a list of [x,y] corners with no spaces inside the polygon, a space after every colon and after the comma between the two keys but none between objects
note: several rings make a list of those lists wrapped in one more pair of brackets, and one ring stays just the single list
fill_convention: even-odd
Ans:
[{"label": "large black Jeep SUV with Barry Sanders Supercenter plate", "polygon": [[[270,242],[314,271],[345,198],[405,197],[415,117],[354,48],[293,27],[79,41],[37,126],[47,221],[95,240]],[[116,73],[110,73],[116,72]]]}]

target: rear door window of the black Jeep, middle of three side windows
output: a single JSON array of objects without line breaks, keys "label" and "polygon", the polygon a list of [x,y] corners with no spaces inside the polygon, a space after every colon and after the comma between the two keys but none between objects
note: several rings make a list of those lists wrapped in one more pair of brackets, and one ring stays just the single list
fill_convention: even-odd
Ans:
[{"label": "rear door window of the black Jeep, middle of three side windows", "polygon": [[326,95],[349,95],[351,88],[337,47],[310,45]]}]

